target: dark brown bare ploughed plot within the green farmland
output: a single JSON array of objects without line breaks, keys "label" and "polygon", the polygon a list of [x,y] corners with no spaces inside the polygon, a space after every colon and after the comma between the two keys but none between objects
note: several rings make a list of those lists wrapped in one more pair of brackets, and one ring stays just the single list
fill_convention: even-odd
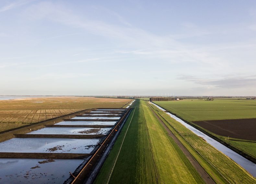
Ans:
[{"label": "dark brown bare ploughed plot within the green farmland", "polygon": [[193,123],[220,136],[256,140],[256,118],[193,121]]}]

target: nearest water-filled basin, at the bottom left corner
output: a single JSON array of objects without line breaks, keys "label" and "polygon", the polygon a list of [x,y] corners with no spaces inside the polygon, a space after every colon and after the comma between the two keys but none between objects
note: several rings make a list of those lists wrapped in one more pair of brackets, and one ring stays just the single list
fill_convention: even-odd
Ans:
[{"label": "nearest water-filled basin, at the bottom left corner", "polygon": [[64,183],[84,159],[0,158],[0,183]]}]

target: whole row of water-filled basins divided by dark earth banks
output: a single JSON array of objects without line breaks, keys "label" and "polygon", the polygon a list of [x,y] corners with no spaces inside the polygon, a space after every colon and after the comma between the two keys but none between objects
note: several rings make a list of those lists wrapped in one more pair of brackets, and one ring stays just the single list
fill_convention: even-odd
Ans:
[{"label": "whole row of water-filled basins divided by dark earth banks", "polygon": [[[0,183],[64,183],[69,172],[77,176],[81,163],[98,148],[101,153],[108,147],[107,134],[127,112],[126,109],[90,110],[77,113],[79,119],[42,124],[30,132],[28,128],[14,133],[16,138],[1,142]],[[89,116],[81,117],[81,114]],[[106,143],[102,146],[103,140]]]}]

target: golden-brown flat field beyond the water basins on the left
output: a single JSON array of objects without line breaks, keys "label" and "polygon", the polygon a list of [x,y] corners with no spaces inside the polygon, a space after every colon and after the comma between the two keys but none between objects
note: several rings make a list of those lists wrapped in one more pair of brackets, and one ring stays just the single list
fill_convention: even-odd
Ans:
[{"label": "golden-brown flat field beyond the water basins on the left", "polygon": [[95,97],[34,97],[0,100],[0,132],[84,109],[120,108],[130,101],[131,99]]}]

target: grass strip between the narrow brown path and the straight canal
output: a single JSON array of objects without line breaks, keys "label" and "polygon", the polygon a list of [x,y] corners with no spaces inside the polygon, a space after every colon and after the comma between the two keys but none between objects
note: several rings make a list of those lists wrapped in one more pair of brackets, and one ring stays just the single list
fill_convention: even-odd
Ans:
[{"label": "grass strip between the narrow brown path and the straight canal", "polygon": [[[152,107],[158,112],[157,107],[153,105]],[[216,183],[225,183],[227,181],[229,183],[256,183],[255,178],[253,178],[233,160],[219,152],[202,138],[195,135],[192,131],[168,116],[163,111],[159,111],[158,113],[166,120],[170,130],[177,135],[180,141],[183,141],[184,146],[187,147],[194,158],[197,159]],[[197,156],[194,153],[195,150],[200,154],[200,156]],[[225,181],[225,179],[227,181]]]}]

